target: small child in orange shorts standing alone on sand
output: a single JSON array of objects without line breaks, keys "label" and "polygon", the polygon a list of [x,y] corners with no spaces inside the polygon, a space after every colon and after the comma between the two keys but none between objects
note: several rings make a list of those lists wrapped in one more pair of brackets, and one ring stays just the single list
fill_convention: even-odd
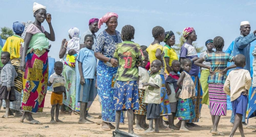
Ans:
[{"label": "small child in orange shorts standing alone on sand", "polygon": [[[64,76],[61,74],[63,71],[63,63],[60,61],[57,61],[54,63],[54,71],[49,80],[48,80],[48,86],[52,86],[53,91],[51,94],[51,121],[50,123],[56,123],[61,122],[61,120],[58,119],[60,107],[62,105],[63,100],[63,92],[64,92],[64,99],[67,99],[66,95],[66,80]],[[54,121],[54,111],[55,111],[55,121]]]}]

